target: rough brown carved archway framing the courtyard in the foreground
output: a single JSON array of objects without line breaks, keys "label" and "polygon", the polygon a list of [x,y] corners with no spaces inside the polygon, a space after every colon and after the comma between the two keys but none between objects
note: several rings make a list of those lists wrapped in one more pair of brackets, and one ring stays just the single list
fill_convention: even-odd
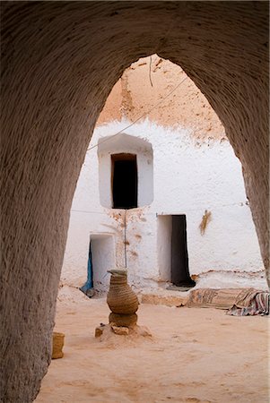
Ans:
[{"label": "rough brown carved archway framing the courtyard in the foreground", "polygon": [[128,65],[181,65],[239,156],[268,268],[266,2],[2,2],[4,402],[28,402],[50,361],[57,282],[91,131]]}]

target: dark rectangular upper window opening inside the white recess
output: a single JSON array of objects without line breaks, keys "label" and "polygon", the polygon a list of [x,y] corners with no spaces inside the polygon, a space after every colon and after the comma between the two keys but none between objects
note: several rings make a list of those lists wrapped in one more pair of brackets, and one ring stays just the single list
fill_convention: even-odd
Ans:
[{"label": "dark rectangular upper window opening inside the white recess", "polygon": [[138,207],[137,159],[134,154],[113,154],[112,207],[113,209],[134,209]]}]

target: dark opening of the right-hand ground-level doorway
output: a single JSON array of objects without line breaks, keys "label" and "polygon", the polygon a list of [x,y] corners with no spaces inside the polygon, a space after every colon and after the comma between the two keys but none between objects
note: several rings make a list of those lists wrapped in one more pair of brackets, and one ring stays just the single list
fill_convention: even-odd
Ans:
[{"label": "dark opening of the right-hand ground-level doorway", "polygon": [[196,283],[188,270],[186,216],[171,216],[171,219],[171,282],[179,287],[194,287]]}]

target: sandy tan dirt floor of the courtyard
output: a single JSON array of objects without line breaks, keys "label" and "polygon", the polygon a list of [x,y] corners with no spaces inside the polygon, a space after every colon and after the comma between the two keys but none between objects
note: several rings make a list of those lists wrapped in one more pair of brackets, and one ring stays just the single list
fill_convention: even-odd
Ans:
[{"label": "sandy tan dirt floor of the courtyard", "polygon": [[50,364],[36,403],[269,401],[268,317],[141,304],[139,324],[152,339],[100,342],[94,330],[108,322],[105,299],[74,293],[58,301],[65,356]]}]

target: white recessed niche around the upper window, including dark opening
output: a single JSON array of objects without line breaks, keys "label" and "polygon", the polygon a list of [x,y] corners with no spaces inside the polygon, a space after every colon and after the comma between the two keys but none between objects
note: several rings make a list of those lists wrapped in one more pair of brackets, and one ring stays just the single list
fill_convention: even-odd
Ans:
[{"label": "white recessed niche around the upper window, including dark opening", "polygon": [[152,203],[152,144],[121,133],[98,145],[100,204],[109,209],[135,209]]}]

